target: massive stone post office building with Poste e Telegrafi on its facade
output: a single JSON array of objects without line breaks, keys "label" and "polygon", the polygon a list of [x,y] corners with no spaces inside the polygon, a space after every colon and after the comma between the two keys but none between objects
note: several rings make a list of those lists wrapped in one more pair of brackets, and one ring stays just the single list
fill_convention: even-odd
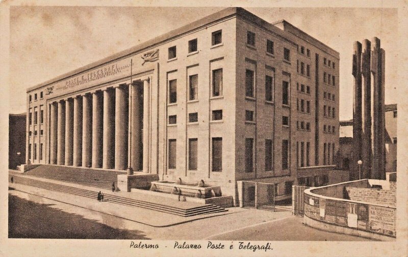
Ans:
[{"label": "massive stone post office building with Poste e Telegrafi on its facade", "polygon": [[32,163],[203,179],[234,198],[236,181],[256,180],[284,195],[334,168],[339,53],[227,8],[30,87],[27,112]]}]

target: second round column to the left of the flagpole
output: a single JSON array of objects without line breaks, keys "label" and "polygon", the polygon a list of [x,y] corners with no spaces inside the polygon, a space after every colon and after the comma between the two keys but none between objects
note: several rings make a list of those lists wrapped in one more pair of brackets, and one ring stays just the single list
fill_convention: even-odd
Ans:
[{"label": "second round column to the left of the flagpole", "polygon": [[104,169],[115,168],[115,92],[112,89],[104,91]]}]

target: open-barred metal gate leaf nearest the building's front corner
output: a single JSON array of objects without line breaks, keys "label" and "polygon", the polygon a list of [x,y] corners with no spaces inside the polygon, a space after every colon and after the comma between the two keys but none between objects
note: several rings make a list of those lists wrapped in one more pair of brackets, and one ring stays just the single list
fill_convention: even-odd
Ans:
[{"label": "open-barred metal gate leaf nearest the building's front corner", "polygon": [[275,211],[275,184],[242,181],[243,207]]}]

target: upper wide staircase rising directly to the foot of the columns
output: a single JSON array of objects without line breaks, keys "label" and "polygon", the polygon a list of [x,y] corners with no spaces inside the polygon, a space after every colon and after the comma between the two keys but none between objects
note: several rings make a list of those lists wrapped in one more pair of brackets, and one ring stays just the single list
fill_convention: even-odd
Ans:
[{"label": "upper wide staircase rising directly to the foot of the columns", "polygon": [[28,176],[61,180],[109,190],[112,190],[112,183],[115,182],[116,184],[118,174],[126,173],[55,165],[41,165],[24,173],[24,175]]}]

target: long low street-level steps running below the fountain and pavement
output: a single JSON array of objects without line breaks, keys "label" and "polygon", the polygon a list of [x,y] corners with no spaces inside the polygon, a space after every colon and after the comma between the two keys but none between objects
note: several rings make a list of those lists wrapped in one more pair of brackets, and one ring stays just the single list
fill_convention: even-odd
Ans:
[{"label": "long low street-level steps running below the fountain and pavement", "polygon": [[[98,191],[75,188],[74,186],[62,185],[58,183],[47,182],[30,176],[22,174],[10,174],[9,181],[13,177],[13,182],[18,184],[35,186],[36,188],[67,193],[71,195],[83,196],[87,198],[97,198]],[[118,193],[120,194],[120,193]],[[104,193],[104,201],[117,203],[121,205],[134,206],[139,208],[151,209],[153,211],[173,214],[181,217],[191,217],[196,215],[214,214],[226,212],[226,209],[216,206],[214,204],[194,204],[193,207],[177,206],[177,203],[171,203],[169,200],[165,201],[145,201],[142,199],[132,199],[120,195]],[[180,202],[179,202],[180,203]]]}]

